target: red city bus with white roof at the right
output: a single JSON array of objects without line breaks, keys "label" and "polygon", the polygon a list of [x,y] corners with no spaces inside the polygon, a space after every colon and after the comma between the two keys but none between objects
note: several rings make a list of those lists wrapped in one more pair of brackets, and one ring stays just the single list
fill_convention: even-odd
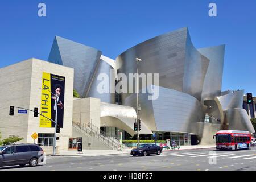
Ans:
[{"label": "red city bus with white roof at the right", "polygon": [[251,148],[251,134],[249,131],[221,130],[213,136],[216,137],[218,150],[238,150]]}]

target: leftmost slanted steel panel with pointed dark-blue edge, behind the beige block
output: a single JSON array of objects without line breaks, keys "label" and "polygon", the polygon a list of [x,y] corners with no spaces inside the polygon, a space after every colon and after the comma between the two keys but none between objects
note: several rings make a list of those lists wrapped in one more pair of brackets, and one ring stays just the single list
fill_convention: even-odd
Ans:
[{"label": "leftmost slanted steel panel with pointed dark-blue edge, behind the beige block", "polygon": [[74,68],[74,89],[86,97],[100,57],[97,49],[56,36],[48,61]]}]

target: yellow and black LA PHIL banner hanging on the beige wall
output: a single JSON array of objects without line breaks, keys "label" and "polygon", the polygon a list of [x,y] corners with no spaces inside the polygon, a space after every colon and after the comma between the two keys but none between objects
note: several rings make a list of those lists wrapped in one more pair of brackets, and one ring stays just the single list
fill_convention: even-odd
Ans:
[{"label": "yellow and black LA PHIL banner hanging on the beige wall", "polygon": [[[51,92],[49,92],[51,90]],[[56,95],[59,96],[57,103],[57,125],[63,128],[65,77],[43,72],[41,114],[55,121]],[[40,115],[40,127],[55,127],[47,118]]]}]

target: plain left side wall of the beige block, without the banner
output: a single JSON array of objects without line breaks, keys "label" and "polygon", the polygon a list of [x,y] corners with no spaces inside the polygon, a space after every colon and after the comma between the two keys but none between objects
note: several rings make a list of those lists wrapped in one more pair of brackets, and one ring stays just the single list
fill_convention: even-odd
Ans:
[{"label": "plain left side wall of the beige block, without the banner", "polygon": [[19,135],[27,142],[28,114],[9,116],[10,106],[30,107],[32,61],[10,65],[0,69],[0,132],[2,139]]}]

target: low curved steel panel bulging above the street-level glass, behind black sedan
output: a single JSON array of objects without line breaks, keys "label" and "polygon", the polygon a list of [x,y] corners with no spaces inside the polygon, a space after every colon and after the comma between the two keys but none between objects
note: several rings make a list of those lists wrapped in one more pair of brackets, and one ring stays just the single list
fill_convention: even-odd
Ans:
[{"label": "low curved steel panel bulging above the street-level glass, behind black sedan", "polygon": [[[196,123],[204,119],[206,110],[195,97],[163,87],[159,87],[157,100],[139,94],[139,103],[140,117],[152,131],[198,133]],[[136,108],[136,94],[127,97],[124,104]]]}]

